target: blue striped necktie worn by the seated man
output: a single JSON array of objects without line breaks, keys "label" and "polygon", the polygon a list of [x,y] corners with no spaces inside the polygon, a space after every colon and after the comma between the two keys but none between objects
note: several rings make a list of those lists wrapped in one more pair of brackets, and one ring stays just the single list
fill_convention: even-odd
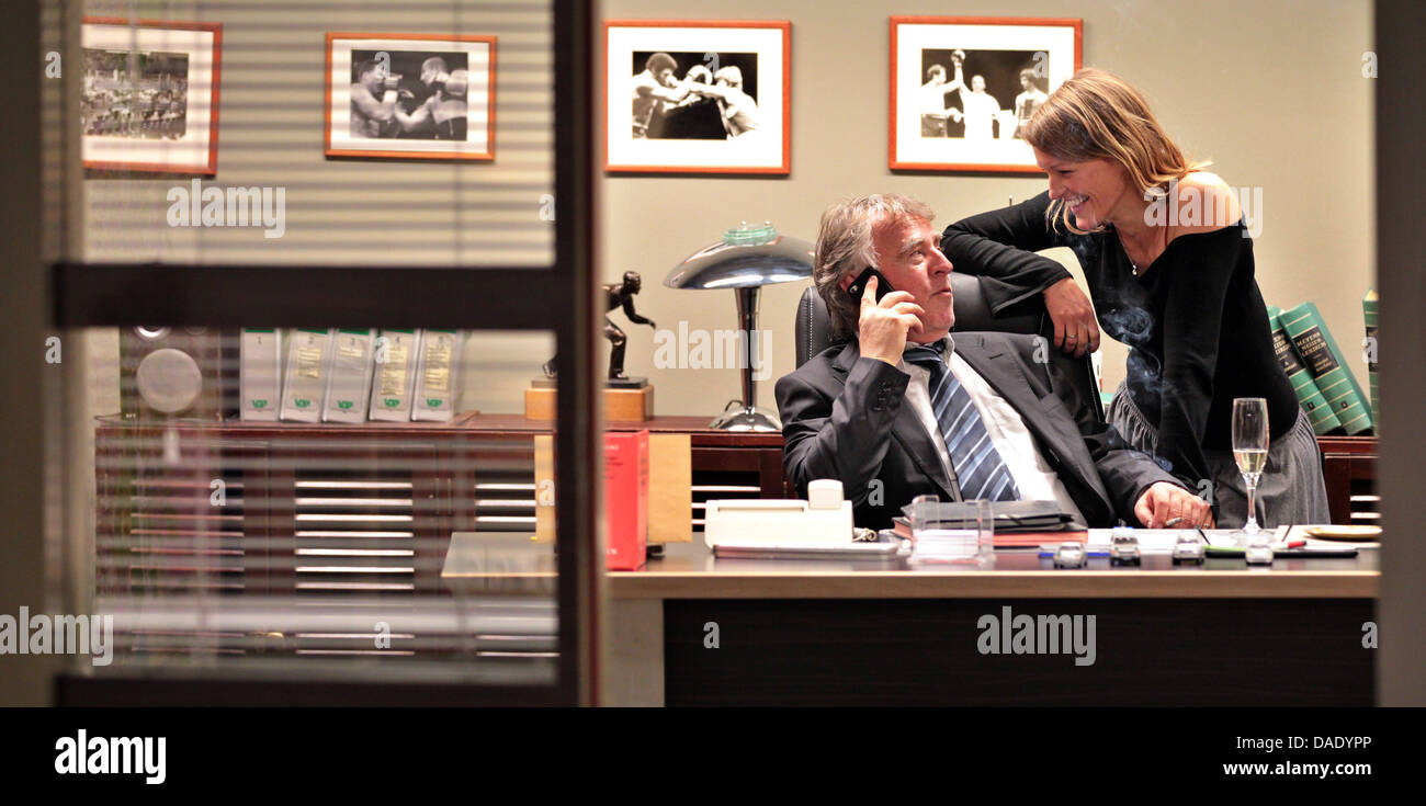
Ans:
[{"label": "blue striped necktie worn by the seated man", "polygon": [[931,411],[941,427],[945,451],[961,486],[964,501],[1018,501],[1020,489],[981,422],[970,392],[951,374],[941,351],[945,341],[908,347],[904,358],[930,369]]}]

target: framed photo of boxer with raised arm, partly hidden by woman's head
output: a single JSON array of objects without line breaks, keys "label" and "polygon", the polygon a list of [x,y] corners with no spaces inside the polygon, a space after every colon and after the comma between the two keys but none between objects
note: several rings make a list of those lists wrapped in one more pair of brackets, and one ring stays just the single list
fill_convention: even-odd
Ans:
[{"label": "framed photo of boxer with raised arm, partly hidden by woman's head", "polygon": [[1079,70],[1082,29],[891,17],[891,170],[1040,173],[1020,126]]}]

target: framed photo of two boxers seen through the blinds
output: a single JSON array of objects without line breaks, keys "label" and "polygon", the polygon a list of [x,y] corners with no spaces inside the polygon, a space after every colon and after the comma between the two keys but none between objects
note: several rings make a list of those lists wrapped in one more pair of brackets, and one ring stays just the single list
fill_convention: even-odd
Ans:
[{"label": "framed photo of two boxers seen through the blinds", "polygon": [[327,34],[325,154],[495,160],[495,44],[479,34]]}]

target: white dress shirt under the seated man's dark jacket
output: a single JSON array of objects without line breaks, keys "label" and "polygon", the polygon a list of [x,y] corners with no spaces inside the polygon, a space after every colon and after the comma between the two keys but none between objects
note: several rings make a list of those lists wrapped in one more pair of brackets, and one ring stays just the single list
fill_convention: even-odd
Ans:
[{"label": "white dress shirt under the seated man's dark jacket", "polygon": [[[907,347],[915,345],[908,342]],[[1015,407],[1000,397],[985,382],[985,378],[981,378],[980,372],[955,354],[955,342],[951,341],[951,337],[945,337],[945,354],[950,357],[951,374],[965,387],[971,402],[975,404],[975,411],[981,415],[981,422],[985,424],[985,434],[995,444],[995,449],[1000,451],[1001,459],[1005,461],[1010,475],[1015,479],[1015,486],[1020,489],[1020,499],[1054,501],[1072,515],[1075,521],[1084,524],[1084,515],[1074,505],[1074,498],[1070,498],[1070,491],[1060,481],[1060,475],[1055,474],[1054,468],[1040,454],[1040,449],[1035,448],[1035,438],[1030,434],[1030,428],[1025,427],[1025,421],[1015,411]],[[921,425],[930,434],[931,442],[935,445],[935,452],[941,456],[941,466],[945,469],[945,475],[955,476],[951,468],[951,455],[945,449],[945,438],[941,437],[941,427],[935,422],[935,411],[931,408],[931,371],[925,367],[911,364],[906,358],[897,364],[897,369],[911,375],[911,382],[906,387],[906,402],[911,405],[917,419],[921,421]]]}]

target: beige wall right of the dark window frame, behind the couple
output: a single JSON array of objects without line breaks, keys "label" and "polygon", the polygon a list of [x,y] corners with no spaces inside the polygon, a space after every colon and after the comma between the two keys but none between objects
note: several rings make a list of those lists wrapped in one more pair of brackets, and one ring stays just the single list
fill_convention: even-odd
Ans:
[{"label": "beige wall right of the dark window frame, behind the couple", "polygon": [[[660,281],[740,220],[770,220],[814,238],[821,208],[850,194],[894,190],[930,203],[940,221],[1021,201],[1042,177],[893,174],[887,170],[888,16],[1081,17],[1084,63],[1119,73],[1149,98],[1192,155],[1231,185],[1263,194],[1253,248],[1269,304],[1312,300],[1366,387],[1362,294],[1375,277],[1372,47],[1365,0],[724,0],[717,10],[667,0],[607,0],[610,19],[791,20],[791,174],[786,178],[605,177],[600,258],[612,281],[645,275],[640,310],[659,327],[736,327],[733,294],[676,291]],[[602,43],[600,43],[602,44]],[[763,294],[773,371],[793,369],[793,308],[804,284]],[[616,315],[617,318],[617,315]],[[734,369],[659,369],[653,331],[630,334],[629,369],[657,387],[659,414],[713,414],[739,397]],[[1105,387],[1124,374],[1105,357]],[[771,381],[759,399],[773,405]]]}]

